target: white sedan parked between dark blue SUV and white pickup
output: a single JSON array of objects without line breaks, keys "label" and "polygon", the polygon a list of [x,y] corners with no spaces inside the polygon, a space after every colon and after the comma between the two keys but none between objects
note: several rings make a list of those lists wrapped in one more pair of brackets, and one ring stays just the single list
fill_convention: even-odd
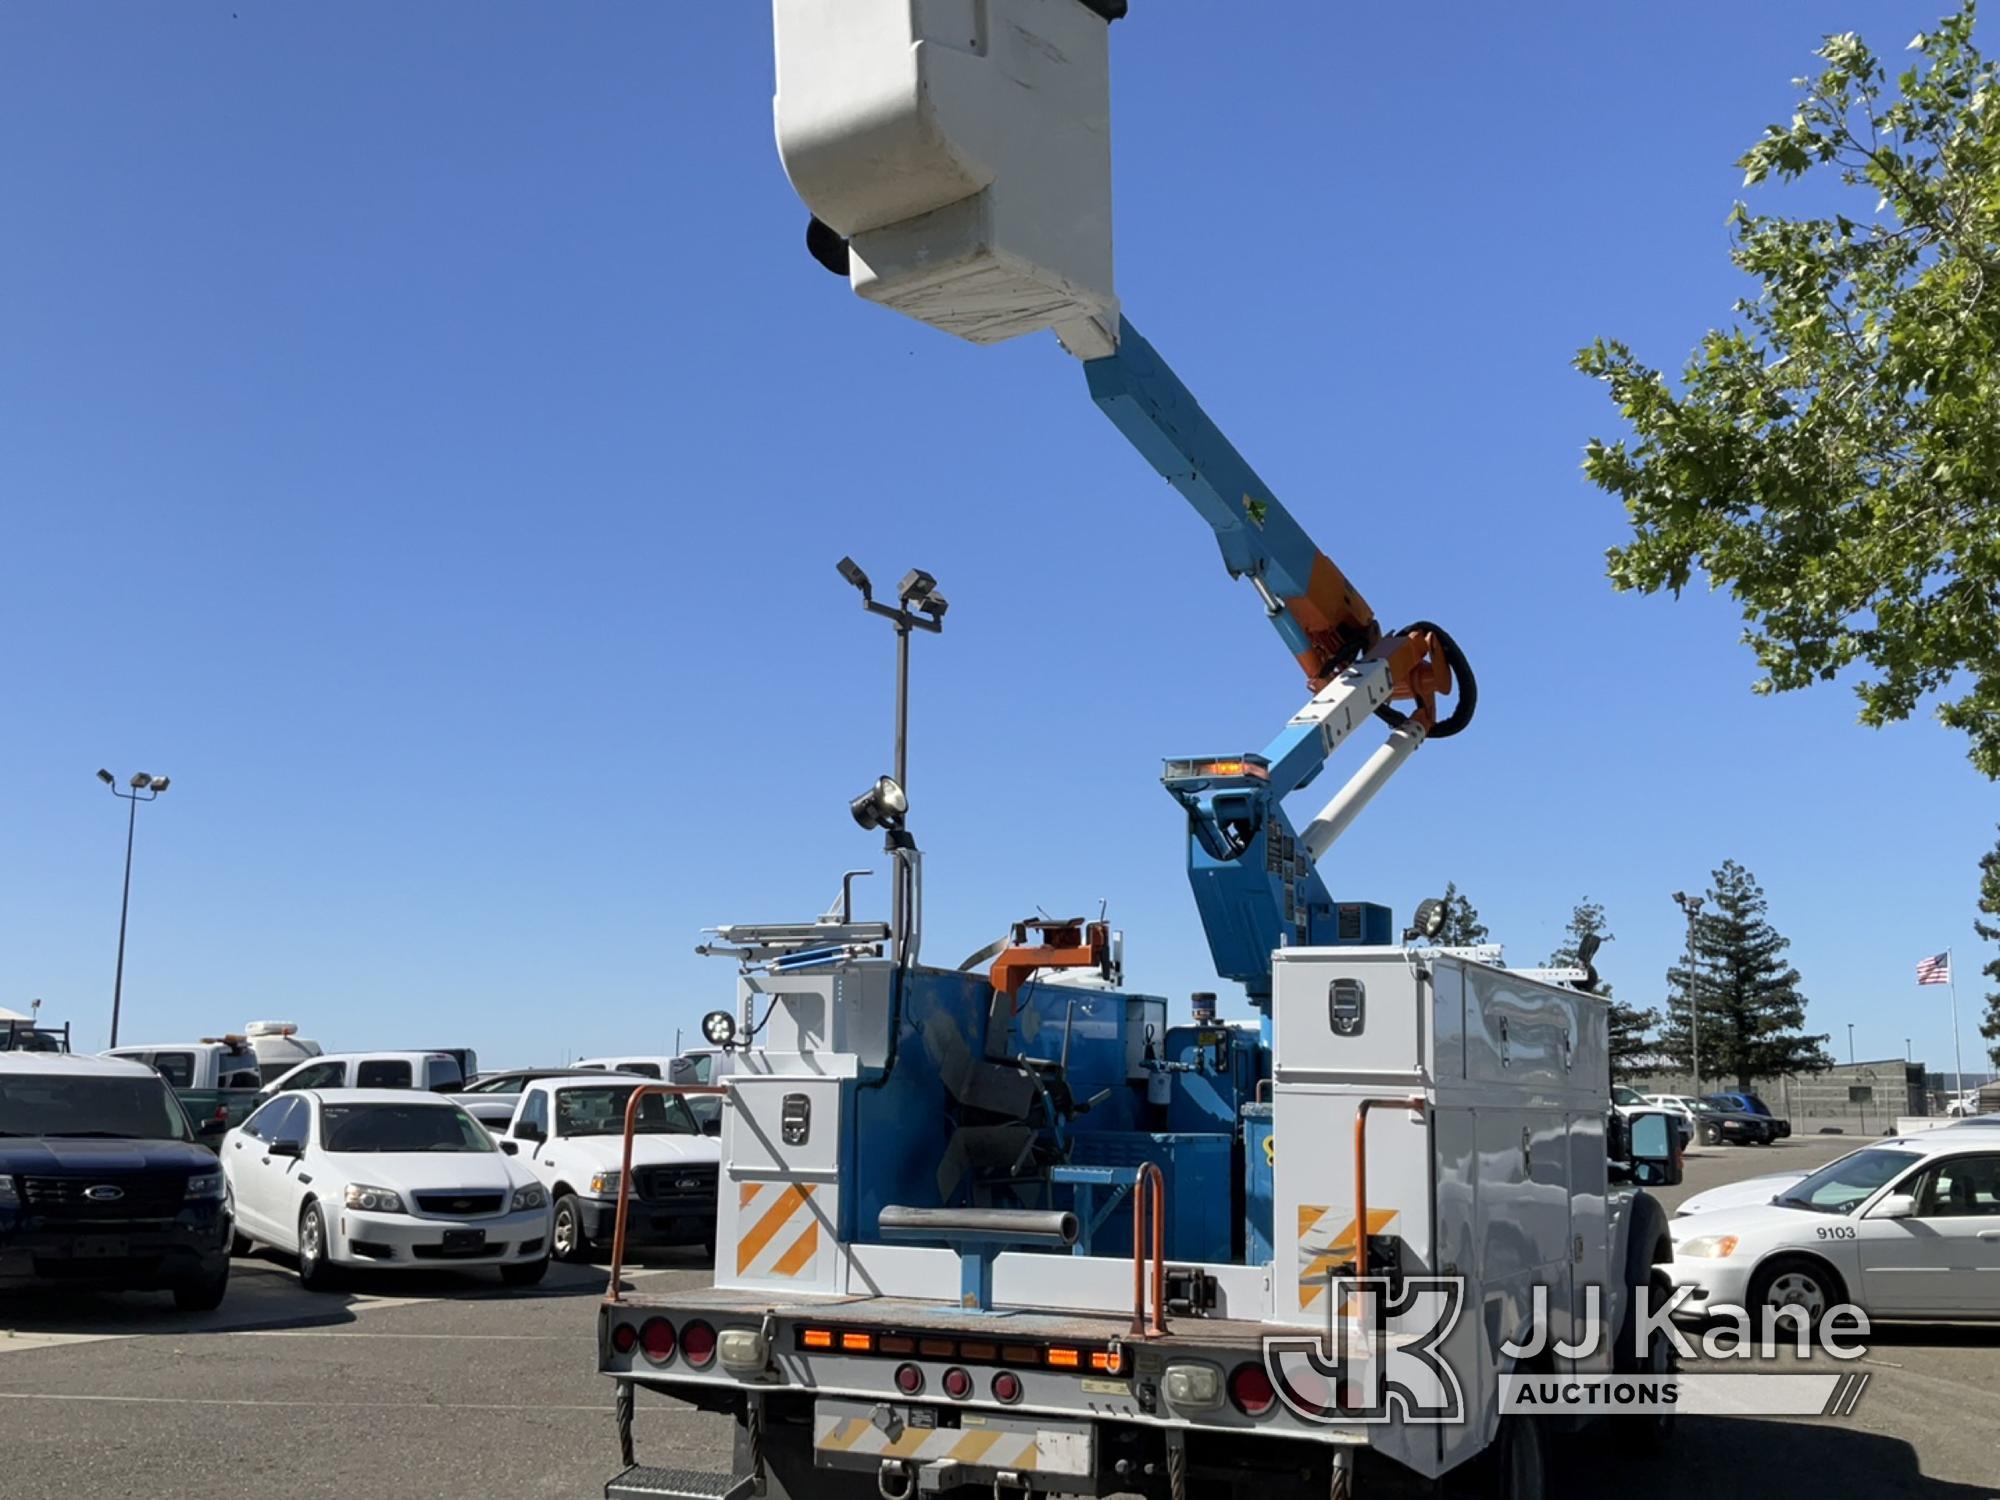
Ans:
[{"label": "white sedan parked between dark blue SUV and white pickup", "polygon": [[496,1266],[508,1286],[548,1272],[548,1192],[438,1094],[278,1094],[220,1156],[238,1254],[248,1242],[296,1254],[302,1286],[344,1266]]}]

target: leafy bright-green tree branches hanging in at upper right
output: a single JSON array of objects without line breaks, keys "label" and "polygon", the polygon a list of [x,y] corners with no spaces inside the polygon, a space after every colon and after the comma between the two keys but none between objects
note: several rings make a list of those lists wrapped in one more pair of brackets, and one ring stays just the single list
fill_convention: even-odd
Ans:
[{"label": "leafy bright-green tree branches hanging in at upper right", "polygon": [[[1832,174],[1852,214],[1730,214],[1760,284],[1670,382],[1618,342],[1576,366],[1632,436],[1584,472],[1632,540],[1612,584],[1728,588],[1758,692],[1858,672],[1864,724],[1938,718],[2000,776],[2000,76],[1968,4],[1890,72],[1852,34],[1820,46],[1744,184]],[[1872,204],[1872,208],[1868,208]]]}]

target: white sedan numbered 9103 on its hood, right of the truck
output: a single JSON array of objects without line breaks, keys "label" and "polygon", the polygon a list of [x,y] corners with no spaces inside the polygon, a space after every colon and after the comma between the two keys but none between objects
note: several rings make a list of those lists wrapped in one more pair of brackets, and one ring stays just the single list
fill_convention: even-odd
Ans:
[{"label": "white sedan numbered 9103 on its hood, right of the truck", "polygon": [[1686,1312],[1854,1302],[1872,1318],[2000,1318],[2000,1130],[1866,1146],[1764,1204],[1672,1220]]}]

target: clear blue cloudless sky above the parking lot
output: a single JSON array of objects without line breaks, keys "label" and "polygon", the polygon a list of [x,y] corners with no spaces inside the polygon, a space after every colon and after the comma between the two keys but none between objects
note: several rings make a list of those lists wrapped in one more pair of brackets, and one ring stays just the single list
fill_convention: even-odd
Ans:
[{"label": "clear blue cloudless sky above the parking lot", "polygon": [[[1480,668],[1336,894],[1458,880],[1516,962],[1596,896],[1644,1002],[1668,894],[1734,856],[1842,1058],[1854,1022],[1950,1066],[1912,984],[1946,944],[1976,1048],[1994,788],[1928,720],[1752,698],[1726,600],[1614,596],[1578,456],[1616,424],[1568,364],[1678,366],[1818,34],[1898,52],[1936,0],[1134,12],[1128,314]],[[92,772],[144,768],[126,1040],[666,1046],[732,994],[704,924],[878,858],[846,798],[890,640],[842,552],[954,606],[916,644],[926,956],[1104,898],[1138,986],[1212,984],[1158,762],[1262,746],[1298,672],[1050,338],[960,346],[806,260],[770,72],[752,0],[0,10],[0,1004],[102,1040]]]}]

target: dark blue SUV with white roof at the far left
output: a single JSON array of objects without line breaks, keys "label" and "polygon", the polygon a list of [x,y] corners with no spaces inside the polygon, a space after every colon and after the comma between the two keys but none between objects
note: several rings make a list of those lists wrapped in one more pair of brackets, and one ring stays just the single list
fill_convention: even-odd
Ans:
[{"label": "dark blue SUV with white roof at the far left", "polygon": [[222,1164],[152,1068],[0,1052],[0,1288],[168,1290],[222,1302]]}]

